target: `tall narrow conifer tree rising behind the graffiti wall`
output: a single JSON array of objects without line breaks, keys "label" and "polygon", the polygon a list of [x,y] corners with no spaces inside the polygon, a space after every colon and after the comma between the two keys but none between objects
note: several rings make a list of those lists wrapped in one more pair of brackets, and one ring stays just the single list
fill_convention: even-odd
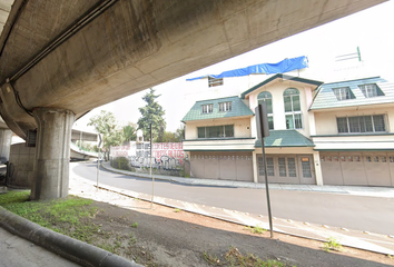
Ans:
[{"label": "tall narrow conifer tree rising behind the graffiti wall", "polygon": [[137,123],[138,128],[144,132],[145,140],[150,140],[150,123],[152,135],[156,137],[162,136],[166,130],[166,121],[162,118],[165,111],[156,101],[158,97],[160,97],[160,95],[155,95],[155,89],[150,88],[150,91],[142,97],[142,100],[146,101],[147,105],[138,109],[142,117],[139,118]]}]

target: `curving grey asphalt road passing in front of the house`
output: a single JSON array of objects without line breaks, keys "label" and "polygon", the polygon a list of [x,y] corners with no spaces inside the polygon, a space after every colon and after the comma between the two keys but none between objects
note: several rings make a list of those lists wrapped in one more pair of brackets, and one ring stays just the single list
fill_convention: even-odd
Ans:
[{"label": "curving grey asphalt road passing in front of the house", "polygon": [[[79,164],[72,171],[97,179],[97,164]],[[99,181],[151,194],[151,180],[114,174],[101,168]],[[394,235],[394,199],[326,192],[270,190],[272,215],[277,218]],[[155,181],[155,196],[238,211],[267,215],[265,189],[188,186]]]}]

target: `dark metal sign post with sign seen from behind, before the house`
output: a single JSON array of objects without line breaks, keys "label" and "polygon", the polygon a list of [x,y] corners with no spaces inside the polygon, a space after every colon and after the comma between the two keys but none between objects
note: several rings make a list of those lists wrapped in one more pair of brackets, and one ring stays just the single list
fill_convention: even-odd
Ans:
[{"label": "dark metal sign post with sign seen from behind, before the house", "polygon": [[266,196],[267,196],[268,219],[269,219],[269,230],[270,230],[270,238],[273,238],[274,237],[273,217],[272,217],[272,214],[270,214],[268,176],[267,176],[267,161],[266,161],[266,158],[265,158],[265,146],[264,146],[264,138],[269,136],[267,103],[265,101],[263,103],[259,103],[256,107],[255,115],[256,115],[256,125],[257,125],[257,136],[258,136],[258,139],[262,140],[265,189],[266,189]]}]

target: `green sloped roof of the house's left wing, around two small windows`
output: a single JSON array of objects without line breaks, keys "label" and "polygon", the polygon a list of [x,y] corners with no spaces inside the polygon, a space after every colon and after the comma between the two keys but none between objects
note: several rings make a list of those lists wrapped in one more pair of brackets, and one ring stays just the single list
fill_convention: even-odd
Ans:
[{"label": "green sloped roof of the house's left wing, around two small windows", "polygon": [[[219,111],[219,102],[232,102],[230,111]],[[214,105],[213,112],[203,113],[203,105]],[[239,97],[217,98],[210,100],[197,101],[193,108],[186,113],[183,121],[219,119],[239,116],[254,116],[255,113],[240,100]]]}]

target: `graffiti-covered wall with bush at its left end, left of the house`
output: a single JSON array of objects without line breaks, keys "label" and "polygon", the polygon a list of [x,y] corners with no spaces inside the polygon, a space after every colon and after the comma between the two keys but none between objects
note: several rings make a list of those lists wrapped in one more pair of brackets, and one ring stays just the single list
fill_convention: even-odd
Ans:
[{"label": "graffiti-covered wall with bush at its left end, left of the house", "polygon": [[[189,177],[189,161],[181,142],[154,142],[151,151],[154,175]],[[111,147],[112,168],[149,174],[150,144],[131,141],[129,146]]]}]

